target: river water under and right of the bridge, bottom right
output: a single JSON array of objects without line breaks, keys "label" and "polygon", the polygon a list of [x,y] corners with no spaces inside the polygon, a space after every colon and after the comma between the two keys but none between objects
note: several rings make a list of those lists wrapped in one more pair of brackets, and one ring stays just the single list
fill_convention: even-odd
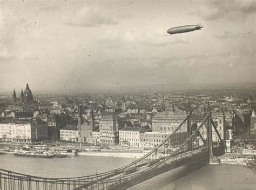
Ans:
[{"label": "river water under and right of the bridge, bottom right", "polygon": [[255,190],[256,174],[241,165],[206,165],[189,173],[187,166],[157,175],[129,190]]}]

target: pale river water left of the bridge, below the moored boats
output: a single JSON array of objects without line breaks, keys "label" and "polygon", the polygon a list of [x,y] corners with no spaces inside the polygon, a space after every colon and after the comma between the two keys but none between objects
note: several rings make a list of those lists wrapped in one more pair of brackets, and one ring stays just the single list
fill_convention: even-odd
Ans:
[{"label": "pale river water left of the bridge, below the moored boats", "polygon": [[71,155],[70,158],[15,157],[0,155],[0,168],[48,178],[80,177],[107,172],[129,164],[132,158]]}]

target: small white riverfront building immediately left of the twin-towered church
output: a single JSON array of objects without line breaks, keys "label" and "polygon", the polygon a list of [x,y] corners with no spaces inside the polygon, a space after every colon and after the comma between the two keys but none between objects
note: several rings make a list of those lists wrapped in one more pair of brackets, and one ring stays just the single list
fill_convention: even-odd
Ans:
[{"label": "small white riverfront building immediately left of the twin-towered church", "polygon": [[60,128],[60,140],[65,141],[78,141],[77,126],[65,126]]}]

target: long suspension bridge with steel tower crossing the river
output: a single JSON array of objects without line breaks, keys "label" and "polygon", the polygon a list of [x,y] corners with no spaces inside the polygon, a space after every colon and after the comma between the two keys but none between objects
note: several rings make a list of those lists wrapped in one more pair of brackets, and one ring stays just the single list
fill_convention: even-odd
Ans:
[{"label": "long suspension bridge with steel tower crossing the river", "polygon": [[[202,127],[206,128],[206,135],[201,135]],[[218,143],[212,142],[212,127],[219,137]],[[161,144],[126,166],[74,178],[42,178],[0,169],[0,189],[127,189],[179,166],[193,162],[211,162],[213,155],[223,154],[224,148],[211,112],[201,116],[190,112]]]}]

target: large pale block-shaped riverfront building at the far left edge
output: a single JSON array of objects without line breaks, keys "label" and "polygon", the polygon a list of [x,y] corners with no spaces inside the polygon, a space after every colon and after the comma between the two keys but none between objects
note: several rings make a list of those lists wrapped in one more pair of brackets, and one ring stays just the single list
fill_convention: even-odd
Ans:
[{"label": "large pale block-shaped riverfront building at the far left edge", "polygon": [[44,121],[17,120],[0,123],[0,139],[9,142],[36,142],[48,139],[48,125]]}]

